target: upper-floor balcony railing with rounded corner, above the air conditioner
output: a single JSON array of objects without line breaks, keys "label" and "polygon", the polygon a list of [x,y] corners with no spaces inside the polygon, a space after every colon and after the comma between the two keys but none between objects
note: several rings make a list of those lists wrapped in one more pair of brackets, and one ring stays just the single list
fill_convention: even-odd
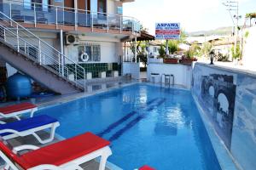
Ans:
[{"label": "upper-floor balcony railing with rounded corner, above the air conditioner", "polygon": [[25,3],[20,1],[6,1],[0,3],[0,10],[12,20],[38,24],[60,26],[78,26],[90,28],[91,31],[100,28],[119,33],[131,31],[136,34],[140,31],[140,23],[132,17],[119,14],[91,12],[89,10],[66,8],[61,6],[45,5],[42,3]]}]

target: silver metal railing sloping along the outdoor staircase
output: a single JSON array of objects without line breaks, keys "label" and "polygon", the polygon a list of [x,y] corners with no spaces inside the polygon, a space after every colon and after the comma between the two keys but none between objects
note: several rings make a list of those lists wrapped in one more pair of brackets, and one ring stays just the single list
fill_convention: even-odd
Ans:
[{"label": "silver metal railing sloping along the outdoor staircase", "polygon": [[20,54],[44,66],[59,77],[85,89],[85,70],[66,55],[61,54],[32,31],[20,26],[0,11],[0,39]]}]

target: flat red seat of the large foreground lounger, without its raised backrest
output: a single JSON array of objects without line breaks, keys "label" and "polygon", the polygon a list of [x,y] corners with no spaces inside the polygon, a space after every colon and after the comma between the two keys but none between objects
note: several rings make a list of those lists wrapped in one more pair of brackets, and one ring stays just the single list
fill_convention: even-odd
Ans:
[{"label": "flat red seat of the large foreground lounger, without its raised backrest", "polygon": [[38,150],[27,152],[20,156],[26,162],[26,168],[35,167],[41,164],[60,166],[80,156],[99,150],[110,144],[107,140],[96,136],[93,133],[84,133],[71,139],[50,144]]}]

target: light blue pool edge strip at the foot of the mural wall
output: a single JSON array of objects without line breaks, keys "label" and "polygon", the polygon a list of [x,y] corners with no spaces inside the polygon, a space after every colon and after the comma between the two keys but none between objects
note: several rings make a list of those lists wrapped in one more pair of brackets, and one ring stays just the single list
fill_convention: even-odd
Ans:
[{"label": "light blue pool edge strip at the foot of the mural wall", "polygon": [[230,151],[226,148],[224,142],[218,134],[215,132],[214,127],[207,117],[207,114],[202,110],[201,105],[199,105],[198,100],[195,98],[195,94],[191,93],[195,101],[195,105],[200,113],[201,120],[207,129],[207,134],[212,143],[212,148],[217,156],[218,163],[222,169],[228,170],[239,170],[241,167],[238,166],[234,157],[231,155]]}]

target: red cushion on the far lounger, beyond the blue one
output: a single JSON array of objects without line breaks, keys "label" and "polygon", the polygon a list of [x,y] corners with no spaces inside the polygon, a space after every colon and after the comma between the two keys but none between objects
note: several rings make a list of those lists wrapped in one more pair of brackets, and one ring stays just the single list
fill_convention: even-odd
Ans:
[{"label": "red cushion on the far lounger, beyond the blue one", "polygon": [[24,111],[24,110],[32,109],[35,107],[37,107],[37,105],[32,105],[31,103],[21,103],[17,105],[8,105],[5,107],[1,107],[0,112],[3,114],[9,114],[16,111]]}]

